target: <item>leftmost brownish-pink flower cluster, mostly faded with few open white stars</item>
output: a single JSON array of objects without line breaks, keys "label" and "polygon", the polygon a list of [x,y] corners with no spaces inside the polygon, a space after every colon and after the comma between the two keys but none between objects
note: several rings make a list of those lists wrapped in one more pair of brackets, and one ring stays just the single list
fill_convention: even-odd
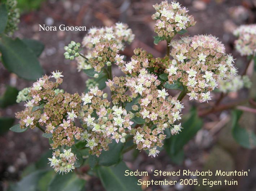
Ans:
[{"label": "leftmost brownish-pink flower cluster, mostly faded with few open white stars", "polygon": [[[74,144],[74,137],[80,139],[81,128],[73,123],[75,113],[80,109],[81,98],[79,94],[63,93],[57,91],[62,83],[61,72],[52,72],[56,82],[44,76],[36,81],[30,88],[29,99],[25,110],[16,113],[21,128],[45,126],[46,133],[52,133],[55,149],[58,146]],[[68,116],[66,118],[66,116]],[[73,117],[72,117],[73,116]]]}]

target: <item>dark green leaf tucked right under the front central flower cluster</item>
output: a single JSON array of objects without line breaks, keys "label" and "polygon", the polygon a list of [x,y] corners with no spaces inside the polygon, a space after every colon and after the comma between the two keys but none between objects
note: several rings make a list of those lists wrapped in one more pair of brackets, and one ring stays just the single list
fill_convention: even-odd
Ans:
[{"label": "dark green leaf tucked right under the front central flower cluster", "polygon": [[120,141],[117,143],[113,140],[113,142],[109,144],[109,150],[101,152],[101,155],[98,157],[98,164],[103,166],[111,166],[119,163],[121,160],[123,147],[123,143]]}]

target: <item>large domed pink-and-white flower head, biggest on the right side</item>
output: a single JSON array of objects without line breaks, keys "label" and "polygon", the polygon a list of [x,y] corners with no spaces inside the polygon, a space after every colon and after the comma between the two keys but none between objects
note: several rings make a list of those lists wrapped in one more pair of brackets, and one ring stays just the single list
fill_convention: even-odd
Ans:
[{"label": "large domed pink-and-white flower head, biggest on the right side", "polygon": [[191,99],[211,100],[210,92],[218,81],[232,79],[237,69],[233,56],[211,35],[184,37],[170,43],[172,63],[166,68],[169,83],[181,82]]}]

